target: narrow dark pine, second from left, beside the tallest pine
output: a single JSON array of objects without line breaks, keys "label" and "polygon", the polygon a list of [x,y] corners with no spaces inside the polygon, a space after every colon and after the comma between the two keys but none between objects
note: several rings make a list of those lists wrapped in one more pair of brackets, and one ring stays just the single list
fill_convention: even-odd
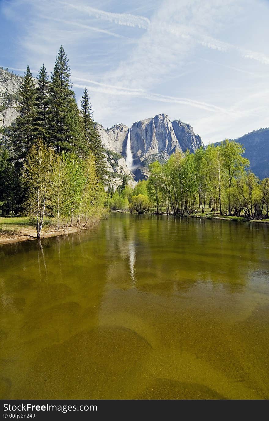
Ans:
[{"label": "narrow dark pine, second from left, beside the tallest pine", "polygon": [[49,112],[49,89],[50,82],[48,80],[48,73],[43,66],[40,68],[37,76],[37,96],[36,96],[36,136],[48,144],[48,112]]}]

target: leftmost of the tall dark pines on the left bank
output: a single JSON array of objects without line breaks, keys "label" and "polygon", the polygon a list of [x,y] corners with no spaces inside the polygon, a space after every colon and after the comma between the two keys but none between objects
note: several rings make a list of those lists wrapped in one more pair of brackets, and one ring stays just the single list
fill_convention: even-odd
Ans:
[{"label": "leftmost of the tall dark pines on the left bank", "polygon": [[34,143],[36,112],[36,88],[29,66],[24,73],[20,85],[19,105],[17,111],[19,116],[11,131],[11,139],[14,148],[14,155],[17,160],[23,160],[30,147]]}]

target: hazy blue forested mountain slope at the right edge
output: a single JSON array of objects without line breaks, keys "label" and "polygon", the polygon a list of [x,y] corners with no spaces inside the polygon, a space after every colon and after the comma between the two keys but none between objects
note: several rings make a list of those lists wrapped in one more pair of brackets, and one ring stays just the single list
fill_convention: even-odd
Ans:
[{"label": "hazy blue forested mountain slope at the right edge", "polygon": [[[234,140],[245,148],[244,157],[250,160],[250,170],[259,179],[269,177],[269,127],[254,130]],[[216,142],[214,145],[219,145]]]}]

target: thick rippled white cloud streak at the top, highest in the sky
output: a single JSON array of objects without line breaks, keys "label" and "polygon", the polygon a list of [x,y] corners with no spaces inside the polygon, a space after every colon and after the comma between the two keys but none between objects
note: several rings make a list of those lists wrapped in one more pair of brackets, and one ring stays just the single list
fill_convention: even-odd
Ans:
[{"label": "thick rippled white cloud streak at the top, highest in the sky", "polygon": [[74,8],[82,13],[87,13],[88,16],[94,16],[97,19],[103,19],[105,21],[114,22],[118,25],[147,29],[150,24],[149,19],[145,18],[144,16],[132,15],[130,13],[106,12],[83,4],[72,4],[65,2],[59,3],[68,5],[69,7]]}]

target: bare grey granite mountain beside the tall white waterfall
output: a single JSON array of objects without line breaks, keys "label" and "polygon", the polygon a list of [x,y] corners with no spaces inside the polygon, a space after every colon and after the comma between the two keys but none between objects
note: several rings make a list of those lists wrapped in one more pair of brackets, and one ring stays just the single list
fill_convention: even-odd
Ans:
[{"label": "bare grey granite mountain beside the tall white waterfall", "polygon": [[[136,121],[129,129],[124,124],[116,124],[106,130],[97,124],[102,143],[107,150],[127,157],[128,134],[133,157],[131,166],[136,181],[146,179],[149,164],[155,160],[164,163],[176,151],[194,152],[203,146],[199,135],[191,125],[180,120],[170,121],[168,115],[158,114],[153,118]],[[130,166],[130,165],[129,165]]]}]

